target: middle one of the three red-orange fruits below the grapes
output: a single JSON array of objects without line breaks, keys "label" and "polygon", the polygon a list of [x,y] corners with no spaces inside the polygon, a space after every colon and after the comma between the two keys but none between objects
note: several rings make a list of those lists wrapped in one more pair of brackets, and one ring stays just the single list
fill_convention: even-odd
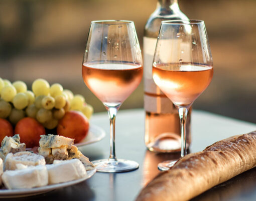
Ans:
[{"label": "middle one of the three red-orange fruits below the grapes", "polygon": [[35,118],[25,117],[16,124],[14,133],[20,134],[21,142],[32,148],[39,146],[40,135],[45,134],[45,128]]}]

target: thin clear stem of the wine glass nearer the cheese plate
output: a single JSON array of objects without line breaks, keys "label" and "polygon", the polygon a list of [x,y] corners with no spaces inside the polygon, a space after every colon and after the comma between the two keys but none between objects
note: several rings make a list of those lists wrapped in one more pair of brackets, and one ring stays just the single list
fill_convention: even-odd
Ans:
[{"label": "thin clear stem of the wine glass nearer the cheese plate", "polygon": [[115,156],[115,116],[119,107],[107,107],[108,117],[110,120],[110,155],[109,160],[117,161]]}]

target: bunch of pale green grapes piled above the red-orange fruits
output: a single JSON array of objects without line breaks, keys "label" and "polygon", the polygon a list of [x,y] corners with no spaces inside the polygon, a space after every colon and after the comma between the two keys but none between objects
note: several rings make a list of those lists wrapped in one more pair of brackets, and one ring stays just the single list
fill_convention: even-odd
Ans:
[{"label": "bunch of pale green grapes piled above the red-orange fruits", "polygon": [[0,95],[0,118],[8,118],[13,124],[29,116],[53,129],[70,109],[83,112],[87,118],[93,113],[93,107],[82,95],[74,95],[59,83],[50,85],[42,78],[32,83],[31,91],[23,81],[11,83],[0,77]]}]

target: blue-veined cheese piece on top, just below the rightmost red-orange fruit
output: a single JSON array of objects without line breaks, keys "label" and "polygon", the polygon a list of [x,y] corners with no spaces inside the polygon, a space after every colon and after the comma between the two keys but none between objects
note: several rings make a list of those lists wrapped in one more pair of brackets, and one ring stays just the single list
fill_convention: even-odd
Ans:
[{"label": "blue-veined cheese piece on top, just below the rightmost red-orange fruit", "polygon": [[40,135],[41,139],[39,140],[40,147],[44,148],[59,148],[61,146],[66,146],[67,148],[71,148],[74,144],[74,139],[64,137],[61,135]]}]

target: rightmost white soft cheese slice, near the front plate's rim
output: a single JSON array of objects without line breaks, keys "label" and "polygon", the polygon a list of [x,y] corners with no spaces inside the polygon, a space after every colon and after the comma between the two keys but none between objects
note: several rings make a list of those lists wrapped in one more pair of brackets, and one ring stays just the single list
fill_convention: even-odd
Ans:
[{"label": "rightmost white soft cheese slice, near the front plate's rim", "polygon": [[49,184],[61,183],[86,176],[86,170],[79,159],[54,160],[46,165]]}]

